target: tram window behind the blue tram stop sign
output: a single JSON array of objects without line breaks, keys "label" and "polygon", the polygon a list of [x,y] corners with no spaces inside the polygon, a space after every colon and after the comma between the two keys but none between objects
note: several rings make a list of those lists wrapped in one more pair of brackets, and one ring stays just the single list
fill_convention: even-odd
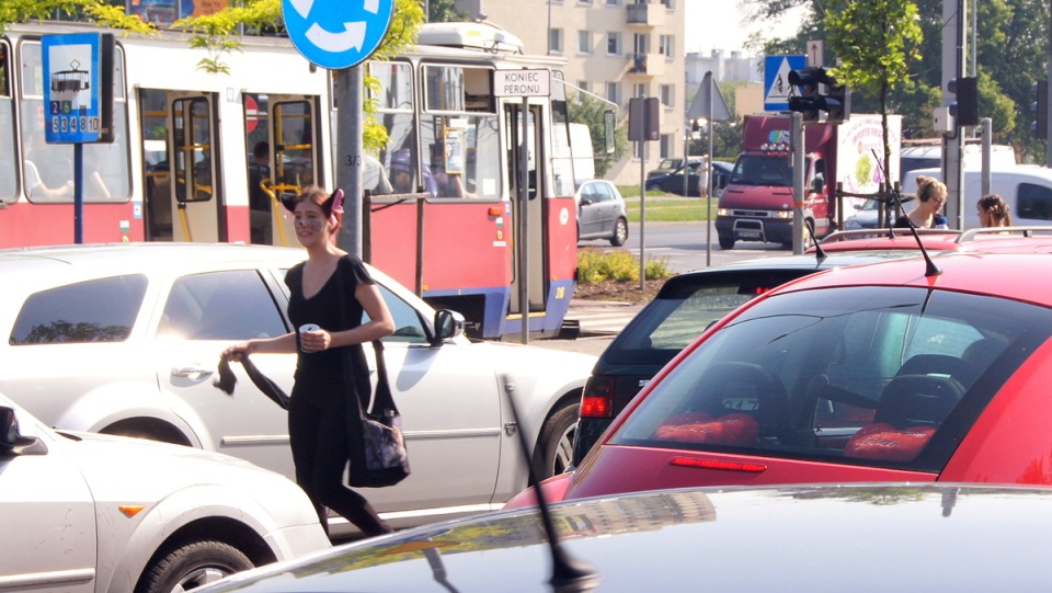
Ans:
[{"label": "tram window behind the blue tram stop sign", "polygon": [[[41,44],[23,41],[19,44],[19,52],[22,65],[19,121],[22,127],[22,181],[25,195],[34,203],[70,203],[73,201],[73,147],[49,145],[44,139],[46,77]],[[127,202],[130,198],[127,107],[124,52],[118,46],[114,52],[114,141],[83,147],[84,202]]]}]

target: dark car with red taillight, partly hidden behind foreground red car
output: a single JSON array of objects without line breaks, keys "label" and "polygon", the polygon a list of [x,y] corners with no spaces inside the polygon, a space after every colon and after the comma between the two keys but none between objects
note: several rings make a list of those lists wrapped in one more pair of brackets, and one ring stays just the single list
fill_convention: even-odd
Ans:
[{"label": "dark car with red taillight, partly hidden behind foreground red car", "polygon": [[581,397],[573,437],[578,465],[628,402],[684,347],[735,307],[791,280],[822,270],[894,258],[916,250],[838,252],[744,260],[668,278],[599,355]]}]

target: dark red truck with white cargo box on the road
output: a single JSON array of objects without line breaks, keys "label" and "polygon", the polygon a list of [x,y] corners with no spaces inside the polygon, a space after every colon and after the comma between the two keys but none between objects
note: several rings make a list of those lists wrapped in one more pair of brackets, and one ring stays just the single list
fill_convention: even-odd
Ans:
[{"label": "dark red truck with white cargo box on the road", "polygon": [[[786,115],[745,116],[744,149],[717,208],[720,248],[733,249],[737,241],[792,247],[789,124]],[[885,166],[880,115],[853,114],[841,124],[804,126],[803,219],[815,237],[836,229],[837,207],[848,215],[865,203],[860,197],[837,201],[837,183],[845,194],[876,194],[881,182],[899,179],[902,116],[889,115],[888,127],[891,162]]]}]

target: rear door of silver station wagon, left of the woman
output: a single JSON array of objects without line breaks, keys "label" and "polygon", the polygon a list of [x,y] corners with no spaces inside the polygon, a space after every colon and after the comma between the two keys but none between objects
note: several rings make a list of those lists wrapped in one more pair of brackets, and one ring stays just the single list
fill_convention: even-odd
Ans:
[{"label": "rear door of silver station wagon, left of the woman", "polygon": [[[232,395],[213,386],[227,346],[289,331],[277,282],[249,265],[175,277],[156,326],[153,368],[161,397],[202,448],[293,477],[285,410],[252,385],[240,364],[230,365],[238,379]],[[295,354],[256,354],[252,362],[291,392]]]}]

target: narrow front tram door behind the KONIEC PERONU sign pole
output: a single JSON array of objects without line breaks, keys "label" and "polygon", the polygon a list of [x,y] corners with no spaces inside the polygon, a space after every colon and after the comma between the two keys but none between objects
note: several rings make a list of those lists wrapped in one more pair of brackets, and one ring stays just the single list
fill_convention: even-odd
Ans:
[{"label": "narrow front tram door behind the KONIEC PERONU sign pole", "polygon": [[[522,104],[505,104],[504,106],[504,123],[506,132],[506,146],[507,146],[507,171],[508,171],[508,182],[511,187],[511,201],[512,201],[512,220],[515,225],[515,243],[512,252],[512,260],[514,265],[512,267],[512,300],[510,312],[513,315],[528,315],[529,311],[538,312],[545,310],[545,296],[548,292],[547,286],[547,274],[545,270],[548,265],[547,258],[545,255],[546,249],[545,244],[547,241],[547,232],[545,229],[545,212],[546,207],[544,196],[547,195],[545,192],[544,183],[546,180],[544,163],[548,162],[548,156],[544,153],[542,147],[545,142],[542,140],[544,136],[544,122],[542,110],[540,105],[529,105],[526,117],[526,139],[527,139],[527,195],[529,196],[529,205],[527,207],[527,228],[526,236],[519,237],[519,231],[522,229],[519,225],[521,220],[521,207],[522,203],[518,196],[518,186],[521,184],[519,170],[522,169],[522,136],[523,136],[523,106]],[[521,258],[523,253],[527,254],[527,264],[529,266],[528,271],[528,309],[523,310],[523,307],[519,304],[519,292],[521,292],[521,282],[519,276],[521,269]]]}]

